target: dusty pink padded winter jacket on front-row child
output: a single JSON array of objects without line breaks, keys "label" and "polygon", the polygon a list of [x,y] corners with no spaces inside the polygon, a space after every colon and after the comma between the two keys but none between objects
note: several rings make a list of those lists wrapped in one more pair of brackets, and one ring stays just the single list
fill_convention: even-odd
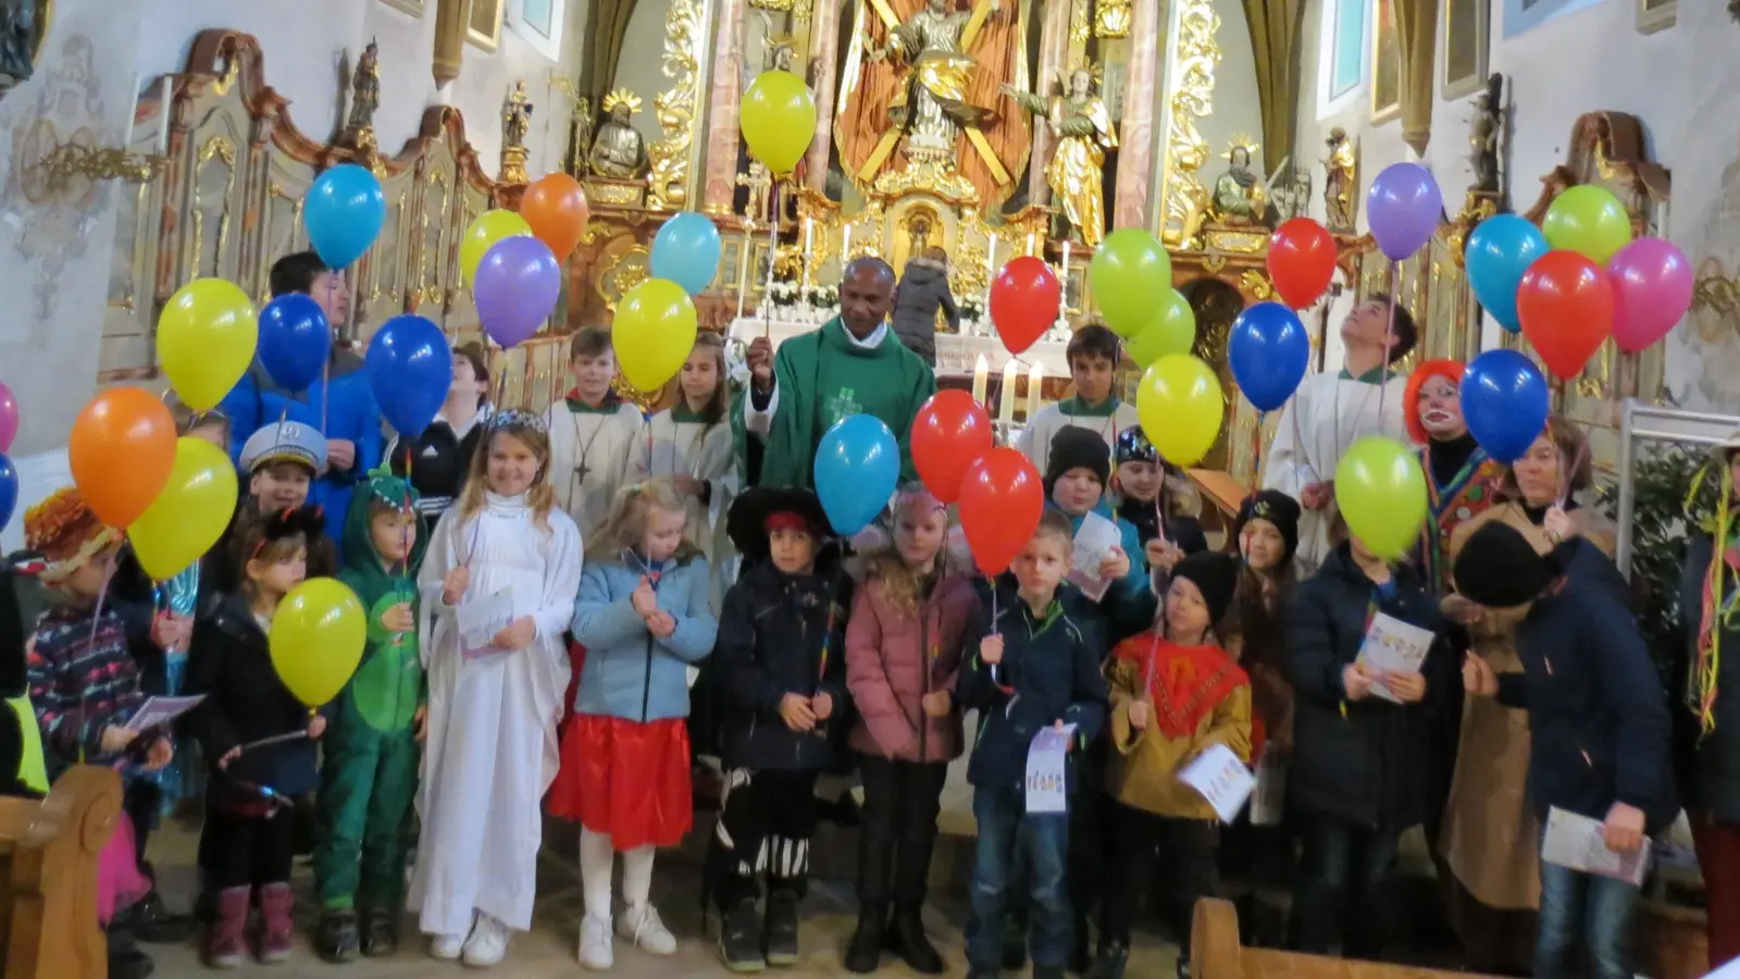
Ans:
[{"label": "dusty pink padded winter jacket on front-row child", "polygon": [[927,622],[894,611],[877,580],[858,589],[846,622],[846,686],[858,712],[847,739],[853,751],[900,761],[950,761],[960,754],[960,711],[926,718],[919,699],[927,690],[954,690],[976,608],[967,575],[943,575],[924,604]]}]

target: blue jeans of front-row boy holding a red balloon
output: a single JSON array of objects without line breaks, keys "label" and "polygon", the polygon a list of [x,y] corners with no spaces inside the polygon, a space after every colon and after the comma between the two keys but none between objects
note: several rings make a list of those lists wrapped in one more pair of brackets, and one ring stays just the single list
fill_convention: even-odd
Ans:
[{"label": "blue jeans of front-row boy holding a red balloon", "polygon": [[978,855],[973,862],[973,911],[967,916],[967,965],[995,974],[1002,965],[1004,902],[1016,855],[1030,888],[1028,941],[1035,969],[1061,970],[1070,955],[1070,897],[1065,864],[1070,820],[1061,812],[1027,815],[1023,793],[974,789]]}]

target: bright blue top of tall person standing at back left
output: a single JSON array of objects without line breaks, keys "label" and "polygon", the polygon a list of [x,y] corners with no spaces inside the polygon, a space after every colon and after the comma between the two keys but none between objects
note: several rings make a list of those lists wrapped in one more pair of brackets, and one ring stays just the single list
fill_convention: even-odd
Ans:
[{"label": "bright blue top of tall person standing at back left", "polygon": [[[332,401],[327,404],[327,388]],[[230,416],[230,458],[240,467],[242,446],[261,427],[289,418],[324,432],[327,439],[346,439],[357,444],[357,462],[346,470],[327,469],[308,493],[310,503],[325,509],[327,537],[343,540],[345,512],[350,509],[350,490],[369,470],[381,465],[381,411],[369,390],[369,375],[362,357],[339,350],[332,355],[331,381],[317,380],[308,390],[291,394],[271,383],[266,369],[256,362],[219,404]],[[322,427],[322,409],[325,425]],[[247,472],[242,474],[247,488]],[[343,556],[339,556],[343,559]]]}]

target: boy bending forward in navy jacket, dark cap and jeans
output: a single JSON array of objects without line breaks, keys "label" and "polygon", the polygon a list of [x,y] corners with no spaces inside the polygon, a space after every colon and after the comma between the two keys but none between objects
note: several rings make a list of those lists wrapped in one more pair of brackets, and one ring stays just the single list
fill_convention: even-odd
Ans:
[{"label": "boy bending forward in navy jacket, dark cap and jeans", "polygon": [[[1667,697],[1630,611],[1610,589],[1564,575],[1568,552],[1542,557],[1512,526],[1493,521],[1456,556],[1456,589],[1489,620],[1516,629],[1521,674],[1495,674],[1469,655],[1470,695],[1528,711],[1528,798],[1547,824],[1554,808],[1597,819],[1610,850],[1629,854],[1677,815],[1669,760]],[[1639,888],[1540,866],[1535,976],[1578,974],[1582,937],[1594,976],[1620,979]]]}]

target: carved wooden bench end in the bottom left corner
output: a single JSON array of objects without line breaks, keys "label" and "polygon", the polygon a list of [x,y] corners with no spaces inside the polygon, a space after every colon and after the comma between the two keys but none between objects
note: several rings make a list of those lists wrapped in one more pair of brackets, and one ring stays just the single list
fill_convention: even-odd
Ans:
[{"label": "carved wooden bench end in the bottom left corner", "polygon": [[40,801],[0,798],[0,976],[103,979],[97,862],[120,819],[120,775],[80,765]]}]

